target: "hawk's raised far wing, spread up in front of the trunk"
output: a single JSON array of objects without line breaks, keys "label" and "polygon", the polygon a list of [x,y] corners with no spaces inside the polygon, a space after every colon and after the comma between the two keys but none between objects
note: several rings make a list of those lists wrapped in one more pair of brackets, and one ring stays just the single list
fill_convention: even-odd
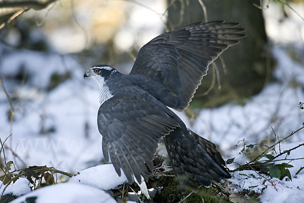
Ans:
[{"label": "hawk's raised far wing, spread up in front of the trunk", "polygon": [[166,104],[166,100],[162,103],[182,111],[188,107],[208,66],[237,44],[236,39],[245,37],[238,25],[224,21],[194,23],[163,33],[139,50],[130,75],[144,75],[163,84],[177,104]]}]

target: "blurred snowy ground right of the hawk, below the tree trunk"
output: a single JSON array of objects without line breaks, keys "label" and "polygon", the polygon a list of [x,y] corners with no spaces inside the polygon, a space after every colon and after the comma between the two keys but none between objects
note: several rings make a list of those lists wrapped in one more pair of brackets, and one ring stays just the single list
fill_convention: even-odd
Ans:
[{"label": "blurred snowy ground right of the hawk, below the tree trunk", "polygon": [[[276,82],[266,85],[244,106],[231,103],[216,109],[203,109],[192,122],[192,129],[218,144],[226,159],[236,157],[236,162],[244,163],[246,156],[238,155],[243,142],[235,146],[238,141],[245,139],[247,145],[270,145],[274,140],[271,127],[282,139],[304,122],[303,111],[298,106],[304,99],[303,64],[293,61],[279,46],[274,46],[272,52],[278,62],[274,71]],[[300,131],[286,142],[304,141],[303,136],[304,132]],[[253,150],[247,149],[250,156]]]}]

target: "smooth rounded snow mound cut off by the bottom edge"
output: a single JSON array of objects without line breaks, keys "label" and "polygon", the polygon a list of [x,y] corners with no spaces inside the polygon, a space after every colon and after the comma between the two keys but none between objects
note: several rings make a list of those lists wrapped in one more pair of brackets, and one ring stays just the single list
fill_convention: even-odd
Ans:
[{"label": "smooth rounded snow mound cut off by the bottom edge", "polygon": [[13,201],[12,203],[20,203],[25,201],[28,197],[37,197],[36,203],[115,203],[115,201],[108,193],[103,190],[75,183],[59,183],[43,188],[39,188],[31,193],[23,195]]}]

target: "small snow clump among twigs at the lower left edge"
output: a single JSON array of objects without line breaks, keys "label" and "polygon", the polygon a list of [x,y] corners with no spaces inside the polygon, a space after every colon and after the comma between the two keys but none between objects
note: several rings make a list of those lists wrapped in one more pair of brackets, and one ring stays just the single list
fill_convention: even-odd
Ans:
[{"label": "small snow clump among twigs at the lower left edge", "polygon": [[[0,191],[2,193],[4,186],[1,187]],[[14,196],[21,196],[31,192],[29,187],[29,182],[25,178],[19,178],[14,184],[10,184],[7,189],[4,191],[5,194],[13,194]]]}]

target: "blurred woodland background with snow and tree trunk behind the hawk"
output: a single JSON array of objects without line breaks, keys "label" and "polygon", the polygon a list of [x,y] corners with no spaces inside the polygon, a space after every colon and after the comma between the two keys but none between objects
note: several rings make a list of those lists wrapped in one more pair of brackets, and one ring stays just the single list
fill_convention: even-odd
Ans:
[{"label": "blurred woodland background with snow and tree trunk behind the hawk", "polygon": [[272,128],[284,138],[304,122],[304,1],[8,2],[0,1],[0,138],[11,135],[6,159],[19,168],[76,173],[104,163],[99,88],[83,73],[108,64],[128,74],[141,46],[198,21],[240,22],[247,37],[209,67],[178,113],[189,128],[241,164],[262,149],[247,145],[276,141]]}]

